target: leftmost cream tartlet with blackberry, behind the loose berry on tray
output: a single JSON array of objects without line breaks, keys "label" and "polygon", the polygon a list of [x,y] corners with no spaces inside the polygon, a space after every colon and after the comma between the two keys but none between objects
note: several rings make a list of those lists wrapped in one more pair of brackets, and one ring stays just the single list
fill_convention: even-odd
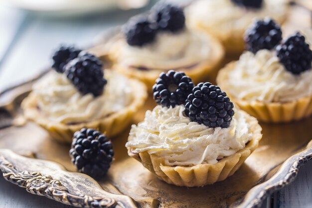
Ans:
[{"label": "leftmost cream tartlet with blackberry, behind the loose berry on tray", "polygon": [[[58,56],[64,56],[62,50]],[[68,143],[81,128],[117,135],[144,104],[144,84],[112,70],[105,70],[104,76],[95,56],[84,51],[76,55],[68,63],[54,65],[56,70],[33,85],[22,102],[25,117]]]}]

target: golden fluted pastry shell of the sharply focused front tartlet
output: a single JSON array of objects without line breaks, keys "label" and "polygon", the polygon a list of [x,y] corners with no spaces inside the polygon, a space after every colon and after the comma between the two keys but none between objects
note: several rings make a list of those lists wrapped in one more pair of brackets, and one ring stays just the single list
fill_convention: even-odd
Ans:
[{"label": "golden fluted pastry shell of the sharply focused front tartlet", "polygon": [[141,162],[157,178],[168,184],[183,187],[201,187],[223,181],[239,169],[248,156],[258,147],[262,138],[262,128],[258,124],[257,119],[245,112],[242,113],[245,114],[246,120],[250,124],[249,133],[252,133],[252,138],[245,148],[233,155],[224,157],[216,164],[199,164],[189,167],[165,166],[161,157],[149,154],[147,151],[135,154],[128,149],[128,154]]}]

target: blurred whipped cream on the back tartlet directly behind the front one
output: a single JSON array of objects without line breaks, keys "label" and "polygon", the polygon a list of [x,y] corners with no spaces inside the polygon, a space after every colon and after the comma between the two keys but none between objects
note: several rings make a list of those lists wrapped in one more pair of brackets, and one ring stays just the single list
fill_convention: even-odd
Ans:
[{"label": "blurred whipped cream on the back tartlet directly behind the front one", "polygon": [[153,70],[188,67],[209,59],[209,42],[207,35],[188,29],[158,32],[156,40],[143,47],[130,46],[123,40],[117,58],[120,64]]}]

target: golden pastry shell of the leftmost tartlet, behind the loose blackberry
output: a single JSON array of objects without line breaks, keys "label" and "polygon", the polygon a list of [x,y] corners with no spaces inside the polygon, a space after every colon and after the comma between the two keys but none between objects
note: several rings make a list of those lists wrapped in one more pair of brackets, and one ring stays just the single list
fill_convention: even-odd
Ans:
[{"label": "golden pastry shell of the leftmost tartlet, behind the loose blackberry", "polygon": [[30,93],[21,106],[25,118],[45,129],[53,139],[62,143],[71,143],[73,134],[82,128],[97,129],[106,132],[108,137],[121,133],[131,122],[133,115],[144,105],[147,98],[145,85],[135,79],[129,79],[129,83],[136,91],[133,93],[133,101],[124,109],[111,113],[108,116],[85,123],[64,124],[50,121],[37,107],[37,97]]}]

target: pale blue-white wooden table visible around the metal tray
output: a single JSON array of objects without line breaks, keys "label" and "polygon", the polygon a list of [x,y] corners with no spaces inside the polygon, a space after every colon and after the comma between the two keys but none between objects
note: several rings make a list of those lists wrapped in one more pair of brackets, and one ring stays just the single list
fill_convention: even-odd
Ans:
[{"label": "pale blue-white wooden table visible around the metal tray", "polygon": [[[87,17],[47,18],[0,7],[0,91],[49,66],[52,51],[61,43],[84,47],[105,29],[125,22],[140,10],[111,11]],[[262,208],[311,208],[312,163],[296,181],[275,193]],[[69,208],[26,193],[0,177],[0,208]]]}]

